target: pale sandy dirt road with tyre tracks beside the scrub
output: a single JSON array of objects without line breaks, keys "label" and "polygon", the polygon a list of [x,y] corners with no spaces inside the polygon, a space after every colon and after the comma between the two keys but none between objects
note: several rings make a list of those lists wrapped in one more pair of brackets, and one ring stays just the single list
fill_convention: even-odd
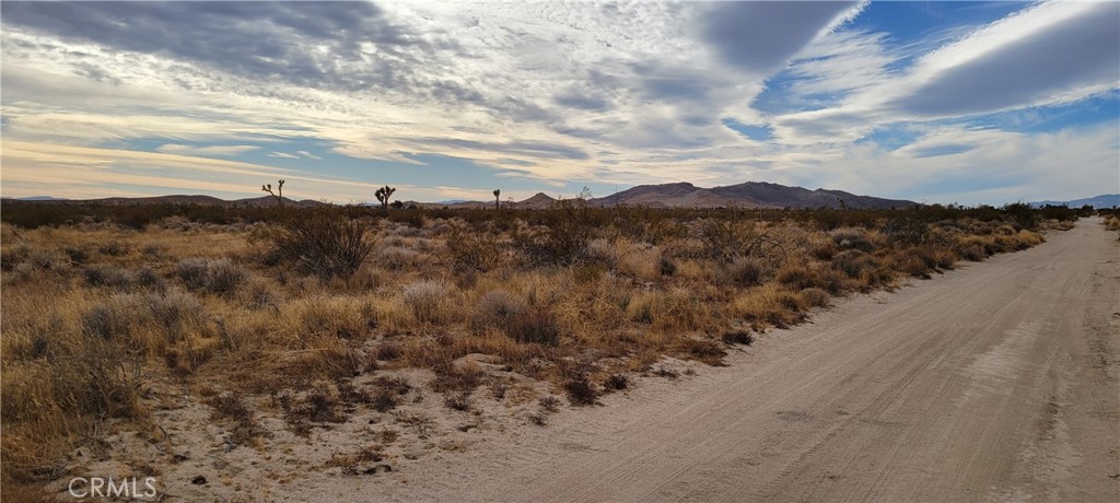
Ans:
[{"label": "pale sandy dirt road with tyre tracks beside the scrub", "polygon": [[1120,501],[1117,235],[1088,220],[1047,239],[344,494]]}]

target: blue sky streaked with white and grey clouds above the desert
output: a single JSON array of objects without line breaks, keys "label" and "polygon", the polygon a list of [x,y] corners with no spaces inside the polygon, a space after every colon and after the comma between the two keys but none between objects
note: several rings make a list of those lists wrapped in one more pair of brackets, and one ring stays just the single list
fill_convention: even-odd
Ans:
[{"label": "blue sky streaked with white and grey clouds above the desert", "polygon": [[1120,192],[1120,1],[0,3],[0,194]]}]

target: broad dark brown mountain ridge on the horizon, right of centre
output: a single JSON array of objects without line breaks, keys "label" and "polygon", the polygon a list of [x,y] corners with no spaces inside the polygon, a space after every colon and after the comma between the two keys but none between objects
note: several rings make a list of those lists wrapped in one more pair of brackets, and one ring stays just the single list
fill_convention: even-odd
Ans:
[{"label": "broad dark brown mountain ridge on the horizon, right of centre", "polygon": [[763,181],[747,181],[725,187],[701,188],[689,183],[640,185],[607,197],[591,199],[598,206],[652,206],[652,207],[833,207],[849,208],[902,208],[916,205],[913,201],[884,199],[858,196],[842,190],[802,187]]}]

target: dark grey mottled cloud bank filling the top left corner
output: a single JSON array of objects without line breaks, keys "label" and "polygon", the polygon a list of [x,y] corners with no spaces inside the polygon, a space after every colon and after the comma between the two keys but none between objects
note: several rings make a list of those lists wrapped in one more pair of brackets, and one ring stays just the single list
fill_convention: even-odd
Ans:
[{"label": "dark grey mottled cloud bank filling the top left corner", "polygon": [[436,50],[371,2],[6,2],[3,22],[306,87],[407,81],[395,63]]}]

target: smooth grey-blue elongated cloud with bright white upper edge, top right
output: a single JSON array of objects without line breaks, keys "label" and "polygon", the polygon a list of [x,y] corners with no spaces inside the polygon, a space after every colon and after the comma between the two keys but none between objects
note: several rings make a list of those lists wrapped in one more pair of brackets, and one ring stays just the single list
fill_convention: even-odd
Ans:
[{"label": "smooth grey-blue elongated cloud with bright white upper edge, top right", "polygon": [[922,58],[918,85],[885,104],[952,117],[1080,99],[1120,78],[1120,3],[1040,4]]}]

